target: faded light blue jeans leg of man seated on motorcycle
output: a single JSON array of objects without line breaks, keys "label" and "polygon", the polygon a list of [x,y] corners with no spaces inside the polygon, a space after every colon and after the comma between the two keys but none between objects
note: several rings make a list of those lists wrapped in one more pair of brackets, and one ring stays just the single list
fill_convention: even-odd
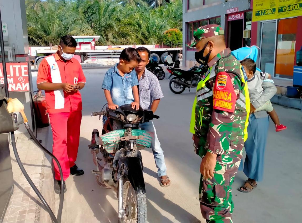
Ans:
[{"label": "faded light blue jeans leg of man seated on motorcycle", "polygon": [[149,132],[154,132],[154,137],[151,143],[151,149],[154,155],[155,165],[158,168],[157,174],[159,177],[167,175],[167,167],[165,165],[164,151],[162,151],[162,147],[160,146],[160,142],[156,135],[156,129],[153,125],[152,121],[145,122],[140,124],[140,128],[142,130],[146,130]]}]

